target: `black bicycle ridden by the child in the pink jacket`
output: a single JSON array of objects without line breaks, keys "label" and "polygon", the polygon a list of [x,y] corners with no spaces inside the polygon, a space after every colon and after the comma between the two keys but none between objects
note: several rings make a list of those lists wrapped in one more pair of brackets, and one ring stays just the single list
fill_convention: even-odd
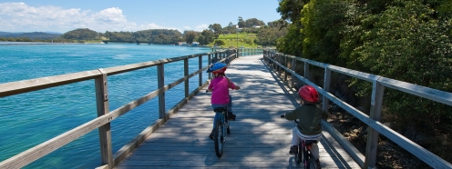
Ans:
[{"label": "black bicycle ridden by the child in the pink jacket", "polygon": [[221,117],[215,121],[213,128],[213,142],[215,143],[215,154],[220,158],[223,154],[223,145],[226,142],[227,134],[231,134],[229,129],[228,108],[216,107],[213,109],[216,114],[221,114]]}]

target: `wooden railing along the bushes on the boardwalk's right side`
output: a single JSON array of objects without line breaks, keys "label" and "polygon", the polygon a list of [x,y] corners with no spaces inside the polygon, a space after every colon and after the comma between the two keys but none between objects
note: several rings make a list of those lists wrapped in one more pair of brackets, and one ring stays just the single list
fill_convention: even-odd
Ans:
[{"label": "wooden railing along the bushes on the boardwalk's right side", "polygon": [[[362,168],[374,168],[375,158],[376,158],[376,148],[378,142],[378,134],[384,134],[387,138],[400,145],[406,151],[411,154],[416,155],[417,158],[429,164],[433,168],[452,168],[452,164],[447,163],[447,161],[439,158],[436,154],[432,154],[420,145],[407,139],[402,134],[396,133],[391,128],[385,126],[380,121],[382,103],[385,87],[389,87],[407,94],[414,94],[432,101],[452,105],[452,94],[444,91],[428,88],[425,86],[420,86],[416,84],[409,84],[402,81],[397,81],[395,79],[386,78],[379,75],[370,75],[363,72],[358,72],[344,67],[339,67],[335,65],[327,65],[324,63],[315,62],[312,60],[304,59],[301,57],[296,57],[293,55],[283,55],[276,53],[274,50],[264,50],[263,53],[264,61],[280,75],[282,76],[282,71],[285,71],[282,80],[287,81],[287,75],[291,74],[292,79],[294,77],[300,79],[305,84],[312,85],[318,90],[320,94],[323,95],[323,109],[326,111],[328,109],[329,101],[331,100],[334,104],[341,106],[349,114],[354,115],[356,118],[361,120],[363,123],[369,125],[369,130],[367,131],[367,144],[365,148],[365,156],[354,148],[354,146],[340,134],[333,125],[328,122],[322,122],[325,129],[328,130],[334,138],[344,146],[344,149],[352,155],[354,161],[359,164]],[[293,70],[287,68],[282,63],[287,63],[287,59],[292,59],[292,67],[295,67],[295,60],[301,61],[304,64],[304,75],[298,75]],[[309,75],[309,65],[315,65],[324,69],[324,86],[321,88],[317,84],[309,81],[306,78]],[[342,75],[348,75],[354,78],[365,80],[373,84],[372,90],[372,100],[371,100],[371,110],[370,115],[367,115],[358,109],[354,108],[350,104],[346,104],[341,99],[334,96],[334,94],[329,93],[330,82],[331,82],[331,72],[336,72]],[[288,74],[287,74],[288,73]],[[293,81],[292,81],[293,87]]]}]

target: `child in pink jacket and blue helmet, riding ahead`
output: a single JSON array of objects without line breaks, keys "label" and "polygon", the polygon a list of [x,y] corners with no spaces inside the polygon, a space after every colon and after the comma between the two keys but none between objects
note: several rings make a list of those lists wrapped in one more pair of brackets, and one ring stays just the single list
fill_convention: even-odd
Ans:
[{"label": "child in pink jacket and blue helmet, riding ahead", "polygon": [[[228,116],[230,120],[235,120],[236,115],[232,114],[232,98],[229,94],[229,89],[239,90],[240,86],[235,85],[231,80],[226,77],[224,72],[226,71],[226,64],[217,62],[207,70],[207,73],[212,73],[213,79],[209,84],[208,91],[211,92],[211,106],[213,109],[216,107],[228,107]],[[220,114],[215,114],[213,120],[213,128],[215,128],[215,122],[220,118]],[[210,139],[213,139],[213,129],[209,135]]]}]

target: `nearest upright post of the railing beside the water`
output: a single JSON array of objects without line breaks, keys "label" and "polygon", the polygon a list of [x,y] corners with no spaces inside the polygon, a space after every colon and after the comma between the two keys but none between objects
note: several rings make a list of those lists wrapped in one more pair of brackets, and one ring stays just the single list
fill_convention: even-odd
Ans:
[{"label": "nearest upright post of the railing beside the water", "polygon": [[[108,105],[108,84],[107,73],[104,69],[98,69],[102,74],[95,79],[96,104],[98,107],[98,117],[109,113]],[[98,127],[100,156],[102,164],[108,164],[108,168],[113,168],[113,149],[111,146],[111,126],[110,123]]]}]

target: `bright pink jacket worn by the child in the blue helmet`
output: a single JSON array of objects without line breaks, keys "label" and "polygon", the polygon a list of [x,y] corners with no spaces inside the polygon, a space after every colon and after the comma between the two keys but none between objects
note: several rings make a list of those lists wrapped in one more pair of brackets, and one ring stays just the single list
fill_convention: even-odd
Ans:
[{"label": "bright pink jacket worn by the child in the blue helmet", "polygon": [[211,80],[211,104],[229,104],[229,89],[235,89],[235,84],[225,76],[218,76]]}]

